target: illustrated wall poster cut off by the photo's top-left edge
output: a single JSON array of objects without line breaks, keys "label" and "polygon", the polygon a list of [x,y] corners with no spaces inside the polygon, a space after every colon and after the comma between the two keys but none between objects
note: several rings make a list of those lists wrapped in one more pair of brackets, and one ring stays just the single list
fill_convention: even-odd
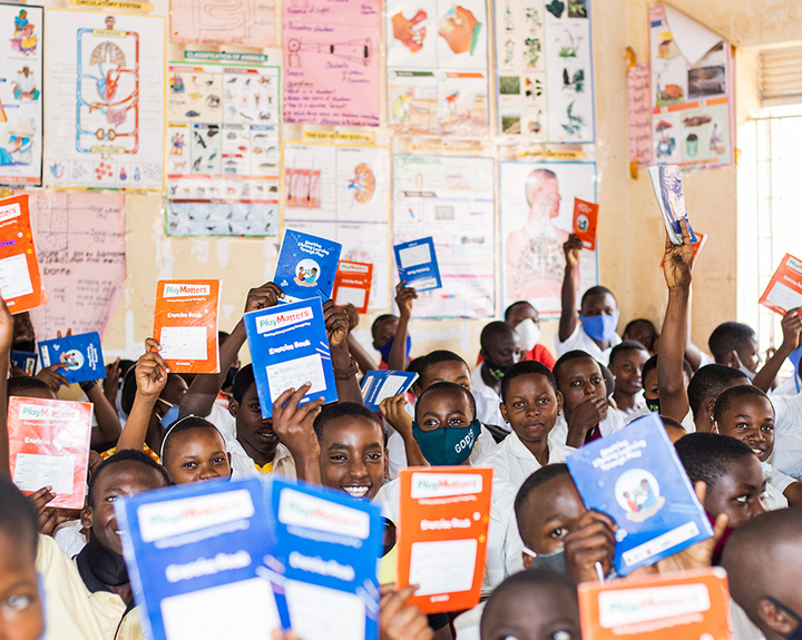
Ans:
[{"label": "illustrated wall poster cut off by the photo's top-left edge", "polygon": [[0,4],[0,185],[41,185],[43,18]]}]

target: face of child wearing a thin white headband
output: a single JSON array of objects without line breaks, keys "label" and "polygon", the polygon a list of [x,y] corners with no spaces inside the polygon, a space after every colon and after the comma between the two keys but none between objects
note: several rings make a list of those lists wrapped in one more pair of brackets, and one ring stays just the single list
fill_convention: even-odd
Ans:
[{"label": "face of child wearing a thin white headband", "polygon": [[169,456],[163,463],[174,483],[231,477],[231,457],[217,431],[193,429],[178,432],[169,439],[173,441]]}]

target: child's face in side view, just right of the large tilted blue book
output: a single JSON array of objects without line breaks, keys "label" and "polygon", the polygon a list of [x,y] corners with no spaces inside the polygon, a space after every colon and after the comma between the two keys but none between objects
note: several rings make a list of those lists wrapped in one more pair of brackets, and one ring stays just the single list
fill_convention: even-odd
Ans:
[{"label": "child's face in side view, just right of the large tilted blue book", "polygon": [[716,518],[726,513],[730,516],[728,526],[737,529],[766,511],[763,501],[765,484],[756,456],[733,461],[727,465],[726,473],[707,488],[705,511]]}]

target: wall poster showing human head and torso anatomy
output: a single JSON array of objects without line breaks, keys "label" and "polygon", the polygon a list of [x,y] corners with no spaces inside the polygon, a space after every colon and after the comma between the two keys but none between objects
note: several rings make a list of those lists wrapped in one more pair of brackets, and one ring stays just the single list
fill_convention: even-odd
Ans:
[{"label": "wall poster showing human head and torso anatomy", "polygon": [[[501,307],[529,301],[540,317],[558,317],[574,198],[596,201],[596,164],[499,163],[499,193]],[[596,252],[581,252],[579,276],[583,292],[597,284]]]}]

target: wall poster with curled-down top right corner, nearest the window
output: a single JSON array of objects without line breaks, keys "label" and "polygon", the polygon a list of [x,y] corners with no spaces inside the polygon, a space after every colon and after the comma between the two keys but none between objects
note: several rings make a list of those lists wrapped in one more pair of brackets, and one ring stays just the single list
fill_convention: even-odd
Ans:
[{"label": "wall poster with curled-down top right corner, nearest the window", "polygon": [[[733,163],[730,45],[678,11],[649,9],[654,163]],[[673,27],[673,28],[672,28]],[[707,36],[700,49],[698,36]]]}]

